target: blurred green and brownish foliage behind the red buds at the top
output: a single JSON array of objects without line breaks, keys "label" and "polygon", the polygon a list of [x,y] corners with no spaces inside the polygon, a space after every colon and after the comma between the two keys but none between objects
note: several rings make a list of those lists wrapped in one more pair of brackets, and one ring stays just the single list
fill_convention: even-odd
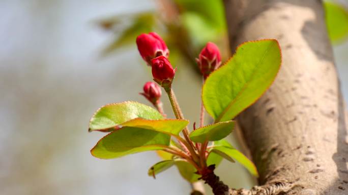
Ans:
[{"label": "blurred green and brownish foliage behind the red buds at the top", "polygon": [[[161,1],[157,3],[160,8]],[[163,5],[164,11],[161,13],[148,11],[132,15],[123,14],[98,21],[102,28],[115,33],[114,41],[102,54],[109,55],[125,46],[136,47],[135,40],[139,34],[156,31],[163,37],[170,50],[169,59],[173,66],[184,60],[197,69],[195,58],[209,41],[224,48],[221,50],[222,55],[227,57],[222,1],[172,0],[166,1]]]}]

